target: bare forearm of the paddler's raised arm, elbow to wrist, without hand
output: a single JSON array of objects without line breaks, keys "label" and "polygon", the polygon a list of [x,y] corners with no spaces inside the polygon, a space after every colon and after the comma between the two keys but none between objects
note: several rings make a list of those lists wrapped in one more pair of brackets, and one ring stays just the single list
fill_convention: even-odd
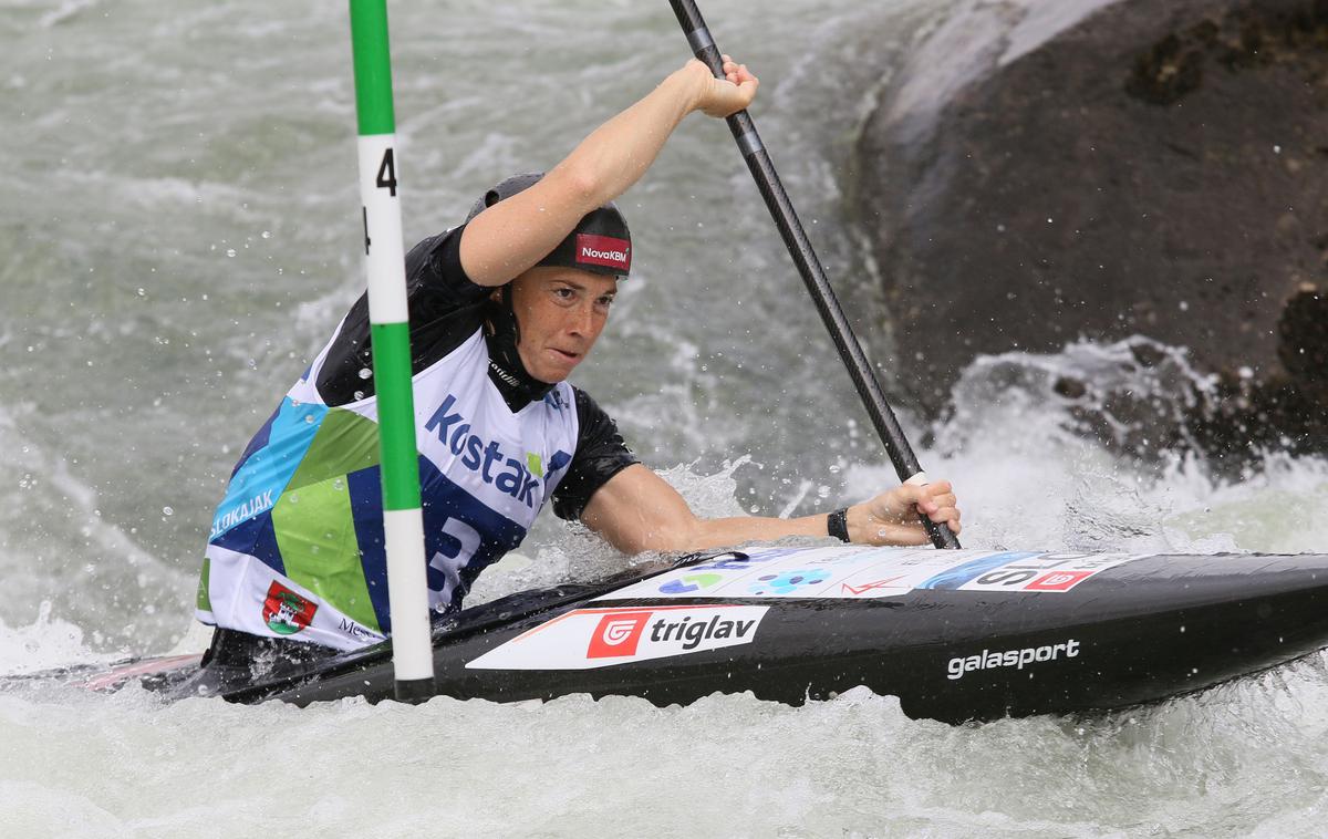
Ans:
[{"label": "bare forearm of the paddler's raised arm, elbow to wrist, without hand", "polygon": [[655,90],[595,129],[550,177],[576,185],[584,211],[610,202],[636,183],[710,82],[700,64],[669,74]]}]

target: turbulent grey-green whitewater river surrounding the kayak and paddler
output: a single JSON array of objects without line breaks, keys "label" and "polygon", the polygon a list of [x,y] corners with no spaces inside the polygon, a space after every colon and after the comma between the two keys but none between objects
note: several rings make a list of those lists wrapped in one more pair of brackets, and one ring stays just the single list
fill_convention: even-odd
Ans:
[{"label": "turbulent grey-green whitewater river surrounding the kayak and paddler", "polygon": [[[967,4],[710,5],[762,77],[754,115],[823,262],[870,301],[837,173],[882,68]],[[663,1],[392,13],[412,242],[687,57]],[[363,283],[348,41],[344,3],[0,0],[0,674],[205,643],[224,479]],[[726,129],[691,118],[622,204],[637,276],[576,381],[648,463],[712,514],[891,482]],[[1038,376],[1123,352],[983,360],[952,418],[906,412],[967,547],[1328,548],[1321,461],[1218,483],[1068,433]],[[474,600],[623,562],[550,519]],[[959,727],[861,689],[798,709],[0,693],[3,836],[1272,836],[1323,831],[1325,777],[1317,657],[1157,708]]]}]

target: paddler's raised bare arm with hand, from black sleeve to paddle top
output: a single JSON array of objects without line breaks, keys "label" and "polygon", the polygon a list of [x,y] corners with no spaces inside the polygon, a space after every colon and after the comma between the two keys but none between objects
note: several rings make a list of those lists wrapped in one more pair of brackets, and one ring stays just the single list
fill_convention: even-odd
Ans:
[{"label": "paddler's raised bare arm with hand, from black sleeve to paddle top", "polygon": [[752,104],[757,78],[724,57],[726,78],[688,61],[655,90],[595,129],[539,183],[485,210],[461,236],[461,266],[479,285],[526,271],[587,212],[636,183],[687,114],[726,117]]}]

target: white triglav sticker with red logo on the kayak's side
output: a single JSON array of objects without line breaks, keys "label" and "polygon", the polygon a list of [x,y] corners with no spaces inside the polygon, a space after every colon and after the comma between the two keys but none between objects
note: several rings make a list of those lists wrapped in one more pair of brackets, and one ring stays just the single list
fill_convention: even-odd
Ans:
[{"label": "white triglav sticker with red logo on the kayak's side", "polygon": [[588,670],[750,644],[770,607],[572,609],[466,664],[470,670]]}]

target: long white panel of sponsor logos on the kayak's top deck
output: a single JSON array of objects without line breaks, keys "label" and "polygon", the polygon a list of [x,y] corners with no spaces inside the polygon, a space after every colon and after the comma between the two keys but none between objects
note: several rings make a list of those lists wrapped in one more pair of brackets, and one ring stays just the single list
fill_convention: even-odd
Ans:
[{"label": "long white panel of sponsor logos on the kayak's top deck", "polygon": [[1130,554],[936,551],[932,548],[753,548],[720,554],[598,597],[872,599],[916,588],[1066,592]]}]

